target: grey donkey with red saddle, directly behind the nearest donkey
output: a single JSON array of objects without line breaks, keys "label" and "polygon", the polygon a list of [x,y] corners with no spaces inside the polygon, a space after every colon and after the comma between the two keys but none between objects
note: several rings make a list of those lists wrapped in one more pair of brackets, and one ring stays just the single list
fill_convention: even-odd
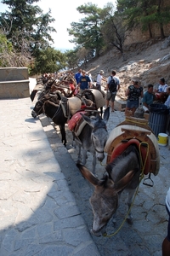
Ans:
[{"label": "grey donkey with red saddle, directly behind the nearest donkey", "polygon": [[[102,162],[105,158],[104,148],[108,138],[108,131],[106,128],[107,121],[110,116],[110,107],[105,109],[104,118],[98,114],[94,119],[82,114],[82,119],[86,121],[86,125],[82,128],[81,133],[77,136],[73,131],[73,140],[79,146],[78,163],[86,164],[87,152],[94,155],[93,173],[95,174],[96,159]],[[82,149],[82,160],[81,160]]]}]

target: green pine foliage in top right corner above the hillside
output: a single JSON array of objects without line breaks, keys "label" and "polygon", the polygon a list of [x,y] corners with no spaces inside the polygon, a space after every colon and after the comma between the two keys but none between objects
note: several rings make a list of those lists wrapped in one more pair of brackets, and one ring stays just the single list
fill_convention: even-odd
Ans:
[{"label": "green pine foliage in top right corner above the hillside", "polygon": [[141,26],[153,38],[151,27],[159,25],[161,38],[165,38],[163,25],[170,21],[170,3],[163,0],[117,0],[117,11],[122,13],[128,29]]}]

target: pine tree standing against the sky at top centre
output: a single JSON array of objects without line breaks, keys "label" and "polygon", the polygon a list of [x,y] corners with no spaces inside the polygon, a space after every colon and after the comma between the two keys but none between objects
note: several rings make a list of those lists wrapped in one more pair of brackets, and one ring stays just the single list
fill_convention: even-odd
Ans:
[{"label": "pine tree standing against the sky at top centre", "polygon": [[71,43],[88,49],[91,56],[99,56],[99,51],[104,45],[101,34],[103,20],[100,16],[102,9],[95,4],[88,3],[79,6],[77,11],[84,17],[80,22],[72,22],[71,29],[67,29],[69,35],[74,37]]}]

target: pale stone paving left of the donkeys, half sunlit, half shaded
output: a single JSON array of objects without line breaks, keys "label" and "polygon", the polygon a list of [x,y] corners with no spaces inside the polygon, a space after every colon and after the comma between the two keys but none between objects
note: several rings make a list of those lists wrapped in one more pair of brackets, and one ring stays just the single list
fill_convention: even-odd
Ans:
[{"label": "pale stone paving left of the donkeys, half sunlit, half shaded", "polygon": [[[33,105],[0,100],[0,255],[100,255]],[[52,125],[45,130],[56,137]]]}]

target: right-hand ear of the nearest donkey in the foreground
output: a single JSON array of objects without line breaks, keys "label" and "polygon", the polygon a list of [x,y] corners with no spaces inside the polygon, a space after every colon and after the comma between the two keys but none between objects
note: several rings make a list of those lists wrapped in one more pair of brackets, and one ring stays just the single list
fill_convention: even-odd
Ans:
[{"label": "right-hand ear of the nearest donkey in the foreground", "polygon": [[114,183],[112,189],[115,189],[117,193],[124,189],[127,186],[127,184],[131,181],[135,173],[135,170],[127,172],[127,174],[124,177],[122,177],[122,179],[120,179],[117,183]]}]

